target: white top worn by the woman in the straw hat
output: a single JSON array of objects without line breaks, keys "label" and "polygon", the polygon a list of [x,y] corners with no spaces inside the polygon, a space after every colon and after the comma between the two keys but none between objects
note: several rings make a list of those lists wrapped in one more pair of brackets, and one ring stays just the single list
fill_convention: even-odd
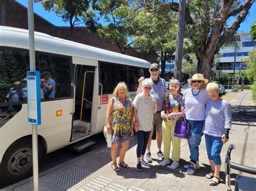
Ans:
[{"label": "white top worn by the woman in the straw hat", "polygon": [[193,121],[205,120],[205,104],[208,100],[208,94],[205,89],[195,90],[189,88],[185,91],[185,107],[186,107],[186,119]]}]

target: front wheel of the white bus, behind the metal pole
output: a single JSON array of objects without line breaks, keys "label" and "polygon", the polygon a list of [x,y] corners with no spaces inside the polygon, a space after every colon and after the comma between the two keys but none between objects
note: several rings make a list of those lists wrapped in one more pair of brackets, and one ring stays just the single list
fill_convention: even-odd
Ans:
[{"label": "front wheel of the white bus, behind the metal pole", "polygon": [[[43,158],[42,145],[38,143],[38,161]],[[17,140],[4,153],[1,162],[1,181],[13,183],[32,175],[32,140],[24,138]]]}]

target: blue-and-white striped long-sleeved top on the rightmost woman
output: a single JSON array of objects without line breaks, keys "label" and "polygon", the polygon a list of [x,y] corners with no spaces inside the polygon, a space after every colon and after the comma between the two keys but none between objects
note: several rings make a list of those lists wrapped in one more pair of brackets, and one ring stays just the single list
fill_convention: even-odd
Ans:
[{"label": "blue-and-white striped long-sleeved top on the rightmost woman", "polygon": [[205,109],[205,125],[203,133],[221,137],[225,129],[231,129],[231,105],[226,100],[212,101],[208,99]]}]

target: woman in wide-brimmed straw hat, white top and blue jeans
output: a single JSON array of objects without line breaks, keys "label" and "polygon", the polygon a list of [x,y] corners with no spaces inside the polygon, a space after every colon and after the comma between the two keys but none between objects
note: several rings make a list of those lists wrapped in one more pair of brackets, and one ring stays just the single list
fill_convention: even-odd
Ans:
[{"label": "woman in wide-brimmed straw hat, white top and blue jeans", "polygon": [[199,145],[203,136],[205,122],[205,104],[208,94],[205,90],[208,80],[202,74],[194,74],[187,80],[190,88],[184,92],[186,119],[190,123],[190,138],[187,140],[190,148],[190,164],[185,165],[187,174],[194,174],[199,169]]}]

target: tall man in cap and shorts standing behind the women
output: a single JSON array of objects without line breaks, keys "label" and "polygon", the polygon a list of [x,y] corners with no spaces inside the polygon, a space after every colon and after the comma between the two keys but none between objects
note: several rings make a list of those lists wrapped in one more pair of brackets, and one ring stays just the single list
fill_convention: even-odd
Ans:
[{"label": "tall man in cap and shorts standing behind the women", "polygon": [[[153,81],[153,86],[150,93],[154,95],[154,97],[156,97],[156,101],[157,101],[157,112],[156,114],[154,114],[154,117],[153,117],[152,130],[150,133],[149,143],[147,144],[147,151],[146,151],[146,161],[152,162],[150,146],[151,146],[151,139],[153,135],[154,124],[156,124],[156,133],[157,133],[157,157],[159,157],[160,159],[164,159],[164,154],[161,152],[161,144],[163,140],[163,135],[162,135],[163,119],[161,118],[161,110],[163,109],[164,100],[165,100],[165,97],[167,97],[168,93],[167,93],[165,80],[159,77],[160,70],[157,63],[152,63],[152,65],[150,65],[149,73],[151,75],[151,80]],[[144,80],[144,77],[140,77],[137,94],[142,92],[143,80]]]}]

